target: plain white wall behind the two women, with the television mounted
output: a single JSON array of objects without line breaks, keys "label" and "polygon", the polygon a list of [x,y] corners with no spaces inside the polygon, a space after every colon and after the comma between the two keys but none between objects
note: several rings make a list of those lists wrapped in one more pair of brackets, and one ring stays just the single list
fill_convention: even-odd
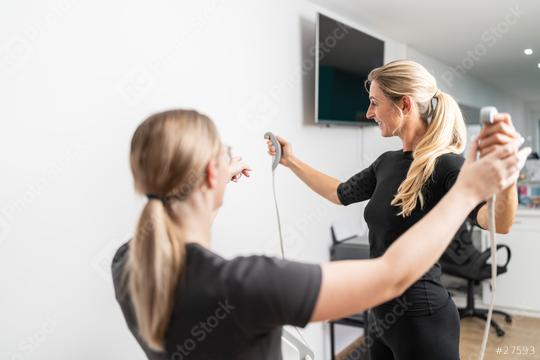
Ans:
[{"label": "plain white wall behind the two women, with the television mounted", "polygon": [[[0,358],[143,358],[109,264],[143,203],[127,156],[151,112],[207,113],[253,166],[251,179],[231,184],[216,220],[214,246],[225,256],[278,253],[265,131],[341,179],[399,148],[376,128],[312,125],[315,10],[300,0],[2,5]],[[387,61],[406,55],[405,44],[384,39]],[[277,191],[289,258],[327,259],[331,222],[362,218],[363,205],[331,205],[286,169]],[[325,358],[323,326],[304,334]]]}]

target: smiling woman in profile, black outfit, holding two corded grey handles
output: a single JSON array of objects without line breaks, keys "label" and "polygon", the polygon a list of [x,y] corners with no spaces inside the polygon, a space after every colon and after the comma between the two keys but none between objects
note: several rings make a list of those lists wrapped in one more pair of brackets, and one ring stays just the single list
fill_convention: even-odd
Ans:
[{"label": "smiling woman in profile, black outfit, holding two corded grey handles", "polygon": [[[403,148],[385,152],[348,181],[341,183],[313,169],[294,156],[288,141],[280,137],[278,141],[283,148],[281,164],[322,197],[343,205],[369,200],[364,219],[371,257],[377,258],[455,184],[464,162],[459,154],[465,148],[466,133],[456,101],[440,91],[435,78],[416,62],[398,60],[374,69],[366,89],[370,98],[367,117],[377,122],[383,137],[399,136]],[[510,115],[499,114],[496,120],[496,125],[480,134],[482,154],[520,138]],[[275,153],[271,143],[268,151]],[[497,194],[498,232],[509,231],[516,208],[514,186]],[[487,206],[479,205],[469,217],[486,228]],[[441,230],[445,226],[441,223]],[[459,314],[440,275],[437,263],[402,296],[373,309],[371,360],[459,359]],[[394,309],[399,304],[407,307],[395,320]]]}]

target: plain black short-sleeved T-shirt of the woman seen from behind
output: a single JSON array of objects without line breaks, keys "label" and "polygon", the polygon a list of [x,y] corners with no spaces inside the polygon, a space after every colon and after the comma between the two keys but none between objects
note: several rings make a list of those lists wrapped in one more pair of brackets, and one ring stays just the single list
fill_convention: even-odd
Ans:
[{"label": "plain black short-sleeved T-shirt of the woman seen from behind", "polygon": [[265,256],[226,260],[198,244],[186,245],[165,338],[151,351],[137,333],[130,296],[122,284],[129,242],[118,249],[112,274],[127,326],[149,359],[281,359],[281,327],[304,327],[321,285],[319,265]]}]

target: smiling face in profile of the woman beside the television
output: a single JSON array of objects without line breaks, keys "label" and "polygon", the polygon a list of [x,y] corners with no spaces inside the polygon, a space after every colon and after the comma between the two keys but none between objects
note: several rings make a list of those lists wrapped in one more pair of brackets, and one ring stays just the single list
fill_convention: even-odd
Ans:
[{"label": "smiling face in profile of the woman beside the television", "polygon": [[384,137],[396,135],[401,124],[401,116],[396,106],[384,95],[375,80],[369,87],[369,108],[366,116],[377,122]]}]

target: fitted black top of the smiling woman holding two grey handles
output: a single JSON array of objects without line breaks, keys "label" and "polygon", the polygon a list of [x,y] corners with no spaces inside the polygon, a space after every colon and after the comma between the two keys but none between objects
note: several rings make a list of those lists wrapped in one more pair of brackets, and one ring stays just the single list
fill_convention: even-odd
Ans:
[{"label": "fitted black top of the smiling woman holding two grey handles", "polygon": [[[364,219],[369,229],[370,255],[373,258],[383,255],[400,235],[437,205],[456,182],[465,159],[457,154],[441,155],[432,176],[422,189],[424,207],[418,204],[410,216],[403,217],[398,215],[401,208],[391,205],[391,202],[407,177],[412,161],[412,151],[385,152],[367,169],[338,187],[337,194],[343,205],[369,200],[364,210]],[[476,221],[480,206],[469,214],[471,220]],[[436,263],[402,296],[376,307],[375,314],[384,315],[395,309],[405,309],[408,315],[432,314],[444,306],[449,298],[440,282],[440,276],[441,266]]]}]

